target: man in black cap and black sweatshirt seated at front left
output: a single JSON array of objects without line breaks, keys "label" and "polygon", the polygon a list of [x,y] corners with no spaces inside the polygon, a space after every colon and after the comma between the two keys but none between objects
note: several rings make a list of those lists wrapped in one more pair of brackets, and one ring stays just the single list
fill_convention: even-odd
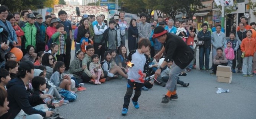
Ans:
[{"label": "man in black cap and black sweatshirt seated at front left", "polygon": [[[45,105],[32,107],[30,101],[44,98],[53,98],[49,94],[30,96],[26,90],[26,84],[34,77],[34,65],[31,61],[24,61],[19,64],[17,78],[12,79],[6,85],[8,93],[9,110],[4,114],[3,119],[43,119],[50,117],[52,111],[40,111]],[[38,109],[38,110],[37,110]]]}]

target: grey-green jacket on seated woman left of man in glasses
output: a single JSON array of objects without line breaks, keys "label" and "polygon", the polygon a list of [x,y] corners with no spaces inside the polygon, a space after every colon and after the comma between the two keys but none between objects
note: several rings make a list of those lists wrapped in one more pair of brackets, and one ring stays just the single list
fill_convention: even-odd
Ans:
[{"label": "grey-green jacket on seated woman left of man in glasses", "polygon": [[75,78],[80,78],[83,73],[82,61],[75,58],[69,66],[68,73],[71,73]]}]

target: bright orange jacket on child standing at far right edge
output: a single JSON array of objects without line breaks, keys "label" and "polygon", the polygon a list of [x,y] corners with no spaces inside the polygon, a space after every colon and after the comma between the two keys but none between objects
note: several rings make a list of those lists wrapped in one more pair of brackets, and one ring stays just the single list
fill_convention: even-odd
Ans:
[{"label": "bright orange jacket on child standing at far right edge", "polygon": [[243,39],[240,45],[241,51],[245,52],[245,57],[253,56],[256,51],[256,41],[251,37],[249,40],[247,37]]}]

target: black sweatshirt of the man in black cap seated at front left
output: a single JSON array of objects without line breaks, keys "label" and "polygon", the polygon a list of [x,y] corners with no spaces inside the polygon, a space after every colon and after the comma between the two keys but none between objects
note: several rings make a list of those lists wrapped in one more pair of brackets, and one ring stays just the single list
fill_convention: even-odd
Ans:
[{"label": "black sweatshirt of the man in black cap seated at front left", "polygon": [[25,87],[24,82],[20,78],[15,78],[8,82],[6,88],[8,101],[10,102],[8,106],[10,109],[8,110],[8,113],[3,115],[3,119],[15,118],[21,109],[28,115],[40,114],[45,117],[45,112],[34,109],[29,103],[34,100],[40,100],[40,96],[31,97],[28,95]]}]

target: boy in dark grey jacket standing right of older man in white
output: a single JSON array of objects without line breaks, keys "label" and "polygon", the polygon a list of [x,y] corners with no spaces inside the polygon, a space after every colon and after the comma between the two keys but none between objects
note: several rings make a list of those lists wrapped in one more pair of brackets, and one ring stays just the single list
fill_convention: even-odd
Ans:
[{"label": "boy in dark grey jacket standing right of older man in white", "polygon": [[[110,49],[117,49],[117,30],[115,30],[114,20],[109,21],[109,28],[104,31],[101,44],[105,45],[103,48],[105,48],[106,51],[109,51]],[[102,45],[99,47],[101,48]]]}]

